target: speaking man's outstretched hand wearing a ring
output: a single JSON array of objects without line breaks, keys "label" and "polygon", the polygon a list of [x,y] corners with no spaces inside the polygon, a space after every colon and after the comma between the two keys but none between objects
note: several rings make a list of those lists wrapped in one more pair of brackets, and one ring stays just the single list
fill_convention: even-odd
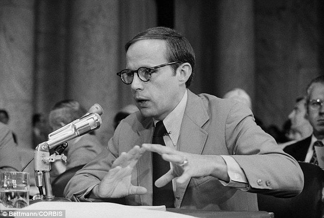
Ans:
[{"label": "speaking man's outstretched hand wearing a ring", "polygon": [[160,144],[143,144],[142,148],[146,151],[156,152],[164,160],[172,163],[173,168],[155,181],[156,187],[165,186],[177,177],[176,181],[179,184],[190,180],[191,177],[203,176],[214,176],[223,181],[229,181],[226,163],[219,155],[184,153]]}]

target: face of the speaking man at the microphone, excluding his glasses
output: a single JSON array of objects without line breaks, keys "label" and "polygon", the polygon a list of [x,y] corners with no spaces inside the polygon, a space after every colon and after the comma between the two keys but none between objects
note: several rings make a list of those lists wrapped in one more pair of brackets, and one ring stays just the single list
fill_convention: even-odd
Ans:
[{"label": "face of the speaking man at the microphone, excluding his glasses", "polygon": [[[126,53],[126,68],[153,67],[168,63],[166,42],[158,39],[145,39],[132,44]],[[180,87],[179,72],[174,75],[172,66],[156,69],[151,79],[143,82],[134,74],[131,89],[136,106],[145,117],[164,119],[180,102],[184,88]]]}]

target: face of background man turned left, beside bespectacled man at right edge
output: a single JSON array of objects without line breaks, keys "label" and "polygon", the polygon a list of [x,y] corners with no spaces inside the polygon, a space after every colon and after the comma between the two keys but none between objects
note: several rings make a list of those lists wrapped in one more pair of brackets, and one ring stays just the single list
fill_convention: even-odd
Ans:
[{"label": "face of background man turned left, beside bespectacled man at right edge", "polygon": [[291,121],[291,129],[298,129],[302,127],[308,120],[305,118],[306,114],[306,107],[305,107],[306,100],[301,100],[297,102],[294,106],[294,109],[289,114],[288,118]]}]

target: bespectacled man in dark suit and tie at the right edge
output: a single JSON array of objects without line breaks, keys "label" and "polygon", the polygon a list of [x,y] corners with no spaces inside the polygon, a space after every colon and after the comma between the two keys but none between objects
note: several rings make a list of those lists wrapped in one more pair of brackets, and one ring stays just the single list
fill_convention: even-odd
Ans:
[{"label": "bespectacled man in dark suit and tie at the right edge", "polygon": [[314,143],[321,146],[324,139],[324,76],[313,79],[307,87],[306,117],[313,127],[313,134],[287,146],[284,151],[298,161],[317,164]]}]

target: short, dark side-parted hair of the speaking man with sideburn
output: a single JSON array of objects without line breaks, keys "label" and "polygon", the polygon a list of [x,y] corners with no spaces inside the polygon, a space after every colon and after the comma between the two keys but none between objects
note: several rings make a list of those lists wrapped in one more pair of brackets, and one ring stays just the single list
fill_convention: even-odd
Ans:
[{"label": "short, dark side-parted hair of the speaking man with sideburn", "polygon": [[191,65],[192,72],[186,82],[186,87],[188,88],[194,76],[195,68],[195,53],[189,41],[173,29],[154,27],[138,33],[134,38],[128,41],[125,45],[125,51],[127,52],[130,45],[143,39],[160,39],[167,42],[166,58],[168,62],[179,61],[179,63],[172,65],[174,73],[182,63],[187,62]]}]

